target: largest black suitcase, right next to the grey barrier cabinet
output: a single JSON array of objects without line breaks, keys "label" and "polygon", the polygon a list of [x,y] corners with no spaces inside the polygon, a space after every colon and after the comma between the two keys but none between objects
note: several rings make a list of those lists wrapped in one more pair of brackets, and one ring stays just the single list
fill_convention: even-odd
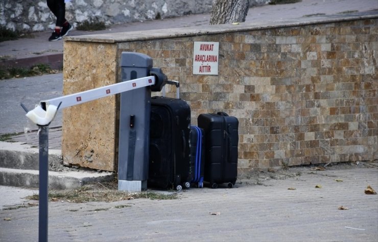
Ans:
[{"label": "largest black suitcase, right next to the grey barrier cabinet", "polygon": [[182,99],[152,97],[148,186],[190,187],[190,106]]}]

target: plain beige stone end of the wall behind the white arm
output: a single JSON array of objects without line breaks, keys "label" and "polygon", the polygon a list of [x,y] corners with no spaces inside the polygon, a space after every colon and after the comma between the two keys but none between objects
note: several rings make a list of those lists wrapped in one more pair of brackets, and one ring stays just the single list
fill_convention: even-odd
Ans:
[{"label": "plain beige stone end of the wall behind the white arm", "polygon": [[[64,41],[63,95],[117,82],[115,43]],[[63,110],[62,155],[65,164],[116,171],[117,96]]]}]

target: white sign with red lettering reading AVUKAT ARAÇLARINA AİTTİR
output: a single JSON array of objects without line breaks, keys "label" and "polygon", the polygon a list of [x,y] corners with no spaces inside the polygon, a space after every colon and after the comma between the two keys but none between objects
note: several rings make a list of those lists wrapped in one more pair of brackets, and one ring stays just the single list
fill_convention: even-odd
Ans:
[{"label": "white sign with red lettering reading AVUKAT ARA\u00c7LARINA A\u0130TT\u0130R", "polygon": [[219,42],[194,42],[193,75],[218,75]]}]

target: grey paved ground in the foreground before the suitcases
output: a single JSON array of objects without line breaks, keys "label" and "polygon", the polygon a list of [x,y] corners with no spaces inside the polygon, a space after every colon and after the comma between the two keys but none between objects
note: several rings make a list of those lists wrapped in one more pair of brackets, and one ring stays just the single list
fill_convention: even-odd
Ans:
[{"label": "grey paved ground in the foreground before the suitcases", "polygon": [[[266,173],[263,185],[243,181],[234,189],[190,189],[176,200],[50,202],[49,240],[373,242],[378,195],[364,190],[368,184],[378,190],[378,170],[360,165],[293,168],[293,177],[285,180]],[[0,237],[36,241],[38,207],[1,210]]]}]

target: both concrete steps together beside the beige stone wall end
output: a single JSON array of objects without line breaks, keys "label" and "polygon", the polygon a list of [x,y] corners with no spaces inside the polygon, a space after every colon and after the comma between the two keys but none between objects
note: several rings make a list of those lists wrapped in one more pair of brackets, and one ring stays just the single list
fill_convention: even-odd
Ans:
[{"label": "both concrete steps together beside the beige stone wall end", "polygon": [[[49,188],[74,189],[88,182],[114,179],[113,172],[63,165],[61,150],[49,149]],[[0,185],[39,187],[39,149],[20,142],[0,142]]]}]

